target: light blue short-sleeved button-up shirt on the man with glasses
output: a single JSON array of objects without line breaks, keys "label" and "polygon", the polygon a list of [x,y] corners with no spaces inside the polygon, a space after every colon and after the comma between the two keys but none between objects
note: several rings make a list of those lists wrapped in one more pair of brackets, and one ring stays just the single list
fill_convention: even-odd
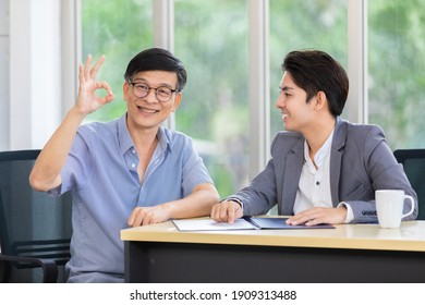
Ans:
[{"label": "light blue short-sleeved button-up shirt on the man with glasses", "polygon": [[125,118],[81,126],[61,172],[62,185],[50,191],[73,194],[70,282],[123,282],[120,230],[129,228],[133,209],[177,200],[198,184],[212,183],[192,139],[165,127],[141,183]]}]

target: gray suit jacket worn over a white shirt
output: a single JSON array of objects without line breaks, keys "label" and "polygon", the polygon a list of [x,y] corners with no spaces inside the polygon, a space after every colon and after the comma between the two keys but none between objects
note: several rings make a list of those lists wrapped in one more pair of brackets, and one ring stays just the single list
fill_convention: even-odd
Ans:
[{"label": "gray suit jacket worn over a white shirt", "polygon": [[[243,203],[244,215],[267,213],[278,205],[279,215],[293,215],[296,191],[304,162],[304,137],[295,132],[279,132],[271,144],[271,159],[251,184],[232,198]],[[353,124],[337,119],[330,152],[330,193],[332,206],[350,205],[353,222],[376,222],[375,190],[403,190],[417,196],[401,164],[377,125]],[[404,212],[410,210],[405,204]]]}]

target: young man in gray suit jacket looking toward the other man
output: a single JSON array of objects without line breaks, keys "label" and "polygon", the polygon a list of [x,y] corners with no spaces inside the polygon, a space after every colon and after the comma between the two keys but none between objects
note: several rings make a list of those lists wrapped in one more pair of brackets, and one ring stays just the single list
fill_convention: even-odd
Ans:
[{"label": "young man in gray suit jacket looking toward the other man", "polygon": [[[352,124],[341,114],[349,93],[343,68],[317,50],[290,52],[283,63],[276,107],[284,132],[271,159],[245,188],[211,209],[216,221],[267,213],[278,205],[289,224],[377,221],[375,190],[417,196],[376,125]],[[410,205],[406,203],[404,212]]]}]

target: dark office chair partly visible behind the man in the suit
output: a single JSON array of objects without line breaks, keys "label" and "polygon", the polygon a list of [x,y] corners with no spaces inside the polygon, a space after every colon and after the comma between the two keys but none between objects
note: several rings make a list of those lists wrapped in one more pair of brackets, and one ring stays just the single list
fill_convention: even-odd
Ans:
[{"label": "dark office chair partly visible behind the man in the suit", "polygon": [[424,149],[397,149],[394,157],[403,164],[413,190],[417,194],[418,215],[417,220],[425,220],[425,148]]}]

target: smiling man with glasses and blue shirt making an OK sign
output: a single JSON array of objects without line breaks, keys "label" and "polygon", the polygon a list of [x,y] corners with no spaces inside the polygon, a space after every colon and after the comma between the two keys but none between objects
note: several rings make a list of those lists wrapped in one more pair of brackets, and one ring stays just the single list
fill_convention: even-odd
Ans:
[{"label": "smiling man with glasses and blue shirt making an OK sign", "polygon": [[[104,62],[80,65],[74,107],[41,150],[29,181],[38,191],[73,194],[69,282],[123,282],[120,230],[208,215],[219,196],[190,137],[161,123],[182,99],[186,71],[163,49],[136,54],[124,74],[127,111],[108,123],[81,125],[114,98],[96,80]],[[99,97],[98,89],[107,95]]]}]

